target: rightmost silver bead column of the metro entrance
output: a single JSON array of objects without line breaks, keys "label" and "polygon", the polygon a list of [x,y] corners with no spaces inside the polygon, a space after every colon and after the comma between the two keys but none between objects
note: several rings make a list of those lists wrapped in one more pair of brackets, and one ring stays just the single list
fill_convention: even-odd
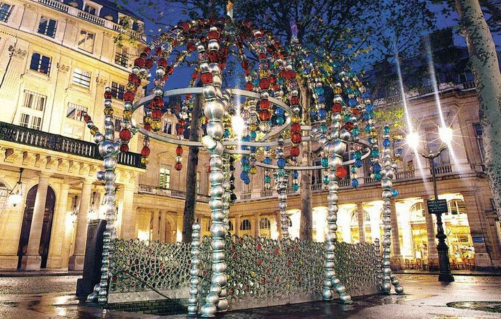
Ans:
[{"label": "rightmost silver bead column of the metro entrance", "polygon": [[[390,134],[385,132],[383,140],[390,140]],[[392,167],[390,146],[383,145],[383,169],[381,170],[381,188],[383,189],[383,256],[382,256],[382,271],[383,278],[381,279],[381,293],[390,293],[391,284],[395,286],[397,293],[404,293],[404,288],[399,285],[398,279],[392,274],[390,254],[391,254],[391,198],[392,194],[392,179],[395,178],[395,169]]]}]

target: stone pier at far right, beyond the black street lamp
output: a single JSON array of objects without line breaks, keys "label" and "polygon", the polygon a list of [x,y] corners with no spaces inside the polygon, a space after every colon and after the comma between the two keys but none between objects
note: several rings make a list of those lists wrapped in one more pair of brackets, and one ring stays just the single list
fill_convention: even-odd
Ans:
[{"label": "stone pier at far right, beyond the black street lamp", "polygon": [[[491,236],[486,233],[488,223],[486,223],[480,205],[479,195],[476,192],[463,192],[463,199],[466,205],[466,215],[468,216],[468,225],[470,226],[470,234],[475,248],[475,267],[487,268],[492,267],[491,256],[487,252],[486,243],[491,242]],[[454,256],[452,256],[454,257]]]}]

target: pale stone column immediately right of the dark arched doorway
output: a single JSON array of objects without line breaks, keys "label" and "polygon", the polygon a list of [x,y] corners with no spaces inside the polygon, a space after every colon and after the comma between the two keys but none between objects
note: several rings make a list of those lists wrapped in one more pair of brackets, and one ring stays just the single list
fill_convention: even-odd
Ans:
[{"label": "pale stone column immediately right of the dark arched doorway", "polygon": [[52,223],[51,240],[49,247],[49,258],[47,260],[47,268],[61,268],[61,251],[65,238],[65,227],[67,219],[67,199],[70,185],[65,182],[59,188],[58,203],[56,205],[56,214]]}]

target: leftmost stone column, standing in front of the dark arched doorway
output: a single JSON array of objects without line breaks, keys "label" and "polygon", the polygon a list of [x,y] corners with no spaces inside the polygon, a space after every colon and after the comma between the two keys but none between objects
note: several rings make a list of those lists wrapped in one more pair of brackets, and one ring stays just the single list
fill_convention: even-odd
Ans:
[{"label": "leftmost stone column, standing in front of the dark arched doorway", "polygon": [[22,256],[22,270],[40,270],[42,256],[40,256],[40,237],[42,235],[43,218],[45,215],[45,201],[47,201],[47,189],[49,188],[50,174],[40,172],[38,176],[38,188],[33,207],[33,219],[31,219],[30,235],[26,255]]}]

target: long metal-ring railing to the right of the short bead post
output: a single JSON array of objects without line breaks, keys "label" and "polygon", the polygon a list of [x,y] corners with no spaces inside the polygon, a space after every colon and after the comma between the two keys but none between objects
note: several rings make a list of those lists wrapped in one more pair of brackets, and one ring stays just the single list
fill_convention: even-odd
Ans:
[{"label": "long metal-ring railing to the right of the short bead post", "polygon": [[[210,237],[200,248],[201,299],[210,286]],[[225,259],[230,309],[321,299],[323,242],[226,238]],[[335,244],[335,271],[353,295],[378,293],[378,257],[373,244]]]}]

